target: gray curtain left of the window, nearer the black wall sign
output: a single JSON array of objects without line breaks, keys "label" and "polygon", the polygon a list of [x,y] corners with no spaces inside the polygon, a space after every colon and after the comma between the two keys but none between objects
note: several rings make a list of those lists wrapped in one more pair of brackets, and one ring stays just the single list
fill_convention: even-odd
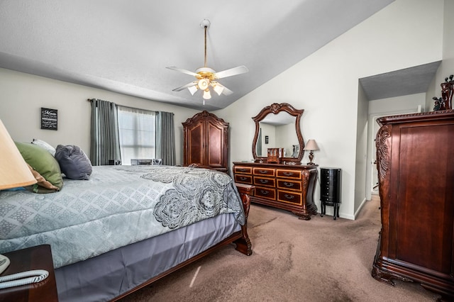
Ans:
[{"label": "gray curtain left of the window, nearer the black wall sign", "polygon": [[109,164],[109,160],[120,160],[118,118],[115,103],[92,99],[92,132],[90,160],[92,165]]}]

